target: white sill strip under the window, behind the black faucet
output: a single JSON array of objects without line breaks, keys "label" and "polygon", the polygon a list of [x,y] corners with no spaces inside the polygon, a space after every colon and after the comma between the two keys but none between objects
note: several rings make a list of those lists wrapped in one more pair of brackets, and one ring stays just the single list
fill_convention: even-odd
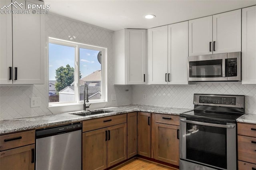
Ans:
[{"label": "white sill strip under the window, behind the black faucet", "polygon": [[[106,106],[108,101],[95,101],[86,103],[86,105],[90,105],[88,109],[100,109]],[[74,111],[82,111],[83,103],[56,103],[49,104],[48,109],[53,113],[66,113],[66,112],[74,112]]]}]

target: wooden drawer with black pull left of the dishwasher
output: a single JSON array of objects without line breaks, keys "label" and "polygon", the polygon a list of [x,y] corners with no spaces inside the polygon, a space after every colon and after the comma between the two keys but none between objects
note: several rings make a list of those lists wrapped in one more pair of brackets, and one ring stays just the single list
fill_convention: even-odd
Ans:
[{"label": "wooden drawer with black pull left of the dishwasher", "polygon": [[35,143],[35,130],[0,136],[0,151]]}]

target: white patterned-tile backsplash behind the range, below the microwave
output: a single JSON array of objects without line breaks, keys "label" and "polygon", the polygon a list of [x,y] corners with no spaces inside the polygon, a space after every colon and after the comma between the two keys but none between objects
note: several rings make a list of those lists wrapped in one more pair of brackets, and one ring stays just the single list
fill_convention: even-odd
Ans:
[{"label": "white patterned-tile backsplash behind the range, below the microwave", "polygon": [[[197,83],[196,85],[133,85],[132,103],[193,108],[194,93],[245,95],[246,113],[256,114],[256,85],[241,82]],[[144,99],[146,95],[146,99]]]}]

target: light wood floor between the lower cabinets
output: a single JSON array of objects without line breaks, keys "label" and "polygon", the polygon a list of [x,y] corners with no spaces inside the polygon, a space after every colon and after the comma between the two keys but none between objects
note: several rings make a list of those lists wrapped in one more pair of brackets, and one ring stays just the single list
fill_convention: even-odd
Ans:
[{"label": "light wood floor between the lower cabinets", "polygon": [[176,170],[146,160],[134,158],[112,170]]}]

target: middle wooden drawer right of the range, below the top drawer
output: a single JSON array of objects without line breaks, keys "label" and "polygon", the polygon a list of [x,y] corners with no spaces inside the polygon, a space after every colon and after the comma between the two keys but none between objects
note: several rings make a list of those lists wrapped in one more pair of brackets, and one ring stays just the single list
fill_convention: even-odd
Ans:
[{"label": "middle wooden drawer right of the range, below the top drawer", "polygon": [[238,135],[238,160],[256,164],[256,138]]}]

